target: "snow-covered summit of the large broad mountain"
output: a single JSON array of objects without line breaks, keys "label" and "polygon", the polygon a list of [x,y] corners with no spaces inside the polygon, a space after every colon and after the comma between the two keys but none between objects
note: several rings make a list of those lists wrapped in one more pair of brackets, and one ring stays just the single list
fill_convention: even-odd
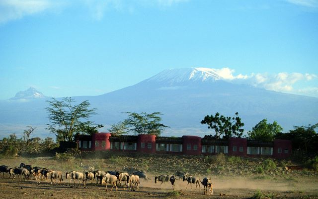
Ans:
[{"label": "snow-covered summit of the large broad mountain", "polygon": [[220,76],[210,68],[179,68],[164,70],[148,82],[182,83],[187,81],[216,81]]}]

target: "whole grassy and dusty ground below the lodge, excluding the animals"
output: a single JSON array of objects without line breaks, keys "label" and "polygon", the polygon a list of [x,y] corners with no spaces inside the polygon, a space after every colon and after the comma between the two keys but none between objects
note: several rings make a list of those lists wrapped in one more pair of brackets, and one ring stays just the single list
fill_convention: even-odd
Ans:
[{"label": "whole grassy and dusty ground below the lodge, excluding the animals", "polygon": [[[0,198],[12,198],[19,193],[25,199],[34,198],[318,198],[318,177],[314,170],[304,169],[292,161],[277,161],[260,158],[239,158],[224,156],[171,156],[144,154],[96,153],[81,154],[83,158],[70,154],[57,154],[54,157],[18,157],[0,159],[0,165],[10,167],[20,163],[62,171],[82,171],[80,163],[94,165],[99,170],[122,171],[125,165],[145,170],[152,179],[141,182],[141,189],[128,192],[119,188],[118,192],[105,192],[105,186],[87,184],[68,186],[64,179],[62,185],[50,185],[49,181],[36,183],[34,180],[19,181],[0,179]],[[154,177],[161,174],[173,174],[176,170],[185,171],[193,176],[211,177],[214,195],[204,196],[203,187],[195,190],[195,185],[186,189],[187,183],[177,181],[175,190],[171,184],[155,184]],[[63,175],[63,178],[65,175]],[[221,195],[221,196],[220,196]]]}]

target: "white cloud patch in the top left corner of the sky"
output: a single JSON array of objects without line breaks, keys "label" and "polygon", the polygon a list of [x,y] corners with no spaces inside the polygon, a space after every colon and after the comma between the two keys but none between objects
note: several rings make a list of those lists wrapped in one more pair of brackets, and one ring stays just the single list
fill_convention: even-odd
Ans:
[{"label": "white cloud patch in the top left corner of the sky", "polygon": [[0,0],[0,23],[40,13],[56,5],[50,0]]}]

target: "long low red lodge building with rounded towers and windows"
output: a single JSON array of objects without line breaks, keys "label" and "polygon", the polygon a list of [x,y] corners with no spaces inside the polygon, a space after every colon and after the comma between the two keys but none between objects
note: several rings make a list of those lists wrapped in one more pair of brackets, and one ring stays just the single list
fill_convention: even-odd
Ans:
[{"label": "long low red lodge building with rounded towers and windows", "polygon": [[276,139],[272,142],[248,140],[232,137],[229,140],[201,138],[184,135],[182,137],[157,137],[156,135],[121,135],[95,133],[77,135],[76,142],[83,151],[125,151],[152,154],[268,156],[283,159],[291,156],[292,142]]}]

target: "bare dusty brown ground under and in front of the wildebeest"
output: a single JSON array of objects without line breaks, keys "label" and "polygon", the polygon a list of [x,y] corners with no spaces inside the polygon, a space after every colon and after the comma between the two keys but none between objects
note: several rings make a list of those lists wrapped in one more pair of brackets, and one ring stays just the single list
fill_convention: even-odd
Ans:
[{"label": "bare dusty brown ground under and in front of the wildebeest", "polygon": [[[29,162],[27,162],[29,161]],[[105,160],[106,162],[108,160]],[[18,166],[19,163],[39,165],[42,167],[58,168],[65,172],[65,168],[72,167],[67,162],[56,160],[38,160],[38,159],[0,159],[0,165]],[[41,165],[42,163],[42,165]],[[53,166],[54,165],[54,166]],[[74,167],[74,166],[73,166]],[[105,170],[108,170],[105,168]],[[229,173],[229,172],[228,172]],[[250,176],[231,176],[219,175],[211,173],[209,177],[214,183],[214,195],[203,195],[203,187],[195,190],[195,185],[190,185],[186,189],[187,183],[176,181],[174,192],[171,191],[171,184],[160,183],[155,184],[155,173],[148,172],[152,180],[148,182],[141,180],[140,189],[134,192],[127,189],[119,188],[118,192],[105,191],[105,186],[96,184],[86,184],[71,186],[68,185],[68,180],[63,176],[62,185],[51,185],[49,181],[37,183],[35,180],[25,181],[14,180],[8,178],[8,174],[0,177],[0,199],[23,198],[23,199],[104,199],[104,198],[122,198],[122,199],[248,199],[252,198],[256,192],[263,195],[263,198],[286,198],[286,199],[318,199],[318,177],[315,174],[300,175],[292,173],[290,176],[275,176],[275,177],[256,177]],[[158,174],[157,174],[158,175]],[[204,174],[198,174],[201,179]],[[78,182],[76,182],[78,183]],[[108,186],[110,190],[111,187]],[[221,196],[220,196],[221,195]]]}]

